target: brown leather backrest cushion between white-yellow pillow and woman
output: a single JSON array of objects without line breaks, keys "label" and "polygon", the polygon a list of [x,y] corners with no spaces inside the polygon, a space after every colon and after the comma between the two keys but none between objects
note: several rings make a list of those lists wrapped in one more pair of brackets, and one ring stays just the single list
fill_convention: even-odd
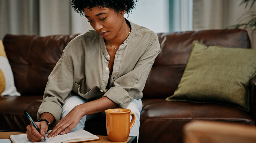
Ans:
[{"label": "brown leather backrest cushion between white-yellow pillow and woman", "polygon": [[6,35],[5,51],[17,91],[21,95],[43,95],[48,76],[63,49],[77,35]]}]

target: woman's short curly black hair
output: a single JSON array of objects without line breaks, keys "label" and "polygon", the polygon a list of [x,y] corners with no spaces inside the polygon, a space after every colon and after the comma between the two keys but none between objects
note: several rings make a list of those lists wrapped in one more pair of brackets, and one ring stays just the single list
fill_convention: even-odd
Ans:
[{"label": "woman's short curly black hair", "polygon": [[84,15],[84,8],[103,7],[112,8],[117,13],[126,10],[126,13],[132,11],[135,8],[135,2],[138,0],[72,0],[70,2],[71,7],[80,15]]}]

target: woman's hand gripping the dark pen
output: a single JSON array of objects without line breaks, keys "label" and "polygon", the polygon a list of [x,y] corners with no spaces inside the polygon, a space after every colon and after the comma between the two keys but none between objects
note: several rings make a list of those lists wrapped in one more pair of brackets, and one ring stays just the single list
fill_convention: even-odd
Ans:
[{"label": "woman's hand gripping the dark pen", "polygon": [[[40,129],[40,127],[41,127],[40,123],[39,124],[36,123],[36,125]],[[44,139],[44,136],[43,136],[44,134],[43,135],[41,134],[42,131],[45,132],[44,130],[42,130],[41,133],[39,133],[32,124],[28,125],[26,128],[27,128],[27,131],[26,131],[27,138],[29,140],[31,140],[32,142],[38,142],[38,141]]]}]

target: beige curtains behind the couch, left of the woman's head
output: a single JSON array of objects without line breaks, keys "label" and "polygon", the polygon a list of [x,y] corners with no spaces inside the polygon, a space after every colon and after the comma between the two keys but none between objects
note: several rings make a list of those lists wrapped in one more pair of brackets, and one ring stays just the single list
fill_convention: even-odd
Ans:
[{"label": "beige curtains behind the couch, left of the woman's head", "polygon": [[5,34],[77,34],[92,29],[69,0],[0,0],[0,40]]}]

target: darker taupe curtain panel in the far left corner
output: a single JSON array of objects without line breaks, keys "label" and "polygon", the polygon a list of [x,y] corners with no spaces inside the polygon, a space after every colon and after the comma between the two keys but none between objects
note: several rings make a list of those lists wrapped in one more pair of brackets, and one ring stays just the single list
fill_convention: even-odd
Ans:
[{"label": "darker taupe curtain panel in the far left corner", "polygon": [[38,2],[0,0],[0,40],[6,33],[38,34]]}]

